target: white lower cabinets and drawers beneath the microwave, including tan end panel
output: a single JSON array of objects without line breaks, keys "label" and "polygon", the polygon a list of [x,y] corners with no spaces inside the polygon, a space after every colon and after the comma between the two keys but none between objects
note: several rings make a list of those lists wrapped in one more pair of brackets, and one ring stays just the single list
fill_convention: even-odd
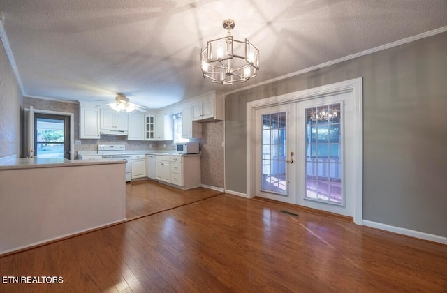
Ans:
[{"label": "white lower cabinets and drawers beneath the microwave, including tan end panel", "polygon": [[182,189],[200,186],[200,156],[156,156],[156,179]]}]

